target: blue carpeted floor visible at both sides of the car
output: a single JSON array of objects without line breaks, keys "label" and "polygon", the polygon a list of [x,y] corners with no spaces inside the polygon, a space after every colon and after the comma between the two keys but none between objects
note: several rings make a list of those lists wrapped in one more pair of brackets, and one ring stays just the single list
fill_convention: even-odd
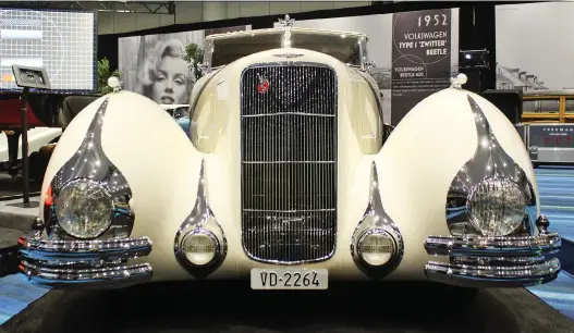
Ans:
[{"label": "blue carpeted floor visible at both sides of the car", "polygon": [[[541,168],[536,170],[536,175],[542,213],[550,220],[550,230],[574,240],[574,168]],[[574,278],[561,273],[559,279],[551,283],[528,289],[574,320]],[[17,275],[0,279],[0,324],[46,292],[24,283]]]}]

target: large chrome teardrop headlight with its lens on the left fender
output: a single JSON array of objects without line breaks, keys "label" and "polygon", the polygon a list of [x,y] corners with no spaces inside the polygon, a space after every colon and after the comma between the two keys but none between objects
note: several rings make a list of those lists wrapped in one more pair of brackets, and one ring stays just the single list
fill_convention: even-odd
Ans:
[{"label": "large chrome teardrop headlight with its lens on the left fender", "polygon": [[101,146],[103,100],[80,148],[56,173],[44,197],[46,232],[53,239],[129,237],[132,189]]}]

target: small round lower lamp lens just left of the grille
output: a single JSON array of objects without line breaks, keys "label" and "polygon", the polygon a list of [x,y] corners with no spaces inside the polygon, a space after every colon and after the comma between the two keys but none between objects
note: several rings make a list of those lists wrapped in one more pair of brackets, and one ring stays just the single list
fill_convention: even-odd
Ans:
[{"label": "small round lower lamp lens just left of the grille", "polygon": [[208,231],[190,232],[182,242],[182,250],[190,263],[205,266],[213,261],[219,244]]}]

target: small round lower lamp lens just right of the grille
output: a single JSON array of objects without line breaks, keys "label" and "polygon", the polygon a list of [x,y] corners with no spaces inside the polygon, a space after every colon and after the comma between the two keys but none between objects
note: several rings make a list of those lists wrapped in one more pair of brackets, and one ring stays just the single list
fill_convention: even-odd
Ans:
[{"label": "small round lower lamp lens just right of the grille", "polygon": [[367,232],[358,242],[363,260],[370,266],[382,266],[395,255],[396,244],[384,231]]}]

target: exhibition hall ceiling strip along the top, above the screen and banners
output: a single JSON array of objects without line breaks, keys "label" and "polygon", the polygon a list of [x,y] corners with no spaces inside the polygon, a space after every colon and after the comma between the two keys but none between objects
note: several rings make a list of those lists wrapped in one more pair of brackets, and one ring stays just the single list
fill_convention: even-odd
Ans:
[{"label": "exhibition hall ceiling strip along the top, above the screen and banners", "polygon": [[0,7],[97,10],[98,34],[370,5],[371,1],[0,1]]}]

